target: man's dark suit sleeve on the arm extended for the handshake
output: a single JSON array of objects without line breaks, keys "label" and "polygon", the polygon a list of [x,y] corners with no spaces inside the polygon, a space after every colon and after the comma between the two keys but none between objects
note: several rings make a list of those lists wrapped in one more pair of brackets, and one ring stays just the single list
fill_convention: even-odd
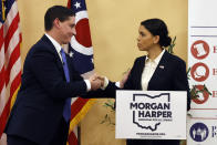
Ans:
[{"label": "man's dark suit sleeve on the arm extended for the handshake", "polygon": [[66,99],[86,92],[84,81],[65,82],[62,71],[58,68],[55,55],[48,49],[35,48],[30,56],[30,68],[41,86],[52,97]]}]

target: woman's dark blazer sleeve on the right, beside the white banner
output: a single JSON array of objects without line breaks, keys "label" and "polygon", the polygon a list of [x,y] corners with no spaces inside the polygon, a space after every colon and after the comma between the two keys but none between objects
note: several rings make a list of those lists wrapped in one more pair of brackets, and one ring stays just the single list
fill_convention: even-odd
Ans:
[{"label": "woman's dark blazer sleeve on the right, beside the white banner", "polygon": [[189,84],[186,73],[186,64],[184,61],[179,61],[175,66],[174,73],[174,90],[176,91],[187,91],[187,111],[190,110],[190,93]]}]

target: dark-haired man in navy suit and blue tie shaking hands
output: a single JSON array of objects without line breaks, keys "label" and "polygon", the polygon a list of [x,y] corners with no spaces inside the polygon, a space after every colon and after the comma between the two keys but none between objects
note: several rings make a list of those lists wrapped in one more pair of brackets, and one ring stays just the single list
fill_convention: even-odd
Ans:
[{"label": "dark-haired man in navy suit and blue tie shaking hands", "polygon": [[[101,97],[94,75],[83,80],[61,49],[75,32],[71,9],[50,8],[44,15],[45,34],[27,54],[21,87],[9,117],[8,145],[65,145],[71,97]],[[69,65],[68,65],[69,64]]]}]

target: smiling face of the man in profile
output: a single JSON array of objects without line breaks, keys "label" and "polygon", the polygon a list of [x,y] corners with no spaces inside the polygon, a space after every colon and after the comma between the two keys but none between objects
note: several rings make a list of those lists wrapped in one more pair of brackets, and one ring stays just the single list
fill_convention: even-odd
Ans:
[{"label": "smiling face of the man in profile", "polygon": [[62,44],[68,44],[71,41],[71,38],[76,34],[75,31],[75,17],[69,17],[68,20],[61,22],[59,32],[60,32],[60,41]]}]

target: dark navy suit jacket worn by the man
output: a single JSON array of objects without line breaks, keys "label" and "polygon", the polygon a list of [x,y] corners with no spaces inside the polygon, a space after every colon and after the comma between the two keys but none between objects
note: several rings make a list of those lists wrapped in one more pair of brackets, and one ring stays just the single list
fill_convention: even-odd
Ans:
[{"label": "dark navy suit jacket worn by the man", "polygon": [[102,91],[86,93],[85,82],[68,62],[70,83],[65,81],[54,45],[45,35],[30,49],[21,87],[6,127],[7,134],[46,145],[60,124],[65,99],[103,96]]}]

